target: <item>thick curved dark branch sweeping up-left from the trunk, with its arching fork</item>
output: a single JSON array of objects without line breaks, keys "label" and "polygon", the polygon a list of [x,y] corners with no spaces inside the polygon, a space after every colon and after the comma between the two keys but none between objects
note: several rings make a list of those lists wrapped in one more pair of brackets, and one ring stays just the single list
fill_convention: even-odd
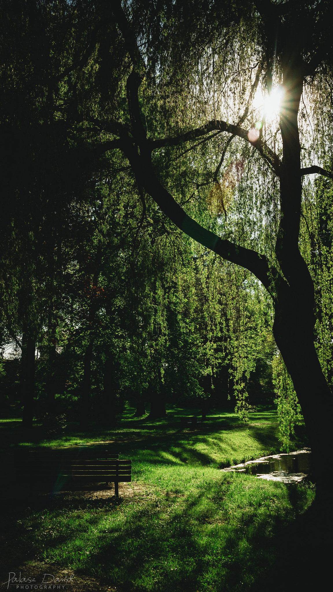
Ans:
[{"label": "thick curved dark branch sweeping up-left from the trunk, with its arching fork", "polygon": [[[217,255],[222,256],[223,259],[227,259],[228,261],[236,263],[236,265],[240,265],[251,271],[274,298],[272,287],[277,281],[286,284],[286,288],[288,288],[288,285],[280,276],[277,269],[269,265],[267,257],[265,255],[260,255],[252,249],[246,249],[229,240],[221,239],[212,231],[207,230],[198,224],[193,218],[190,218],[190,216],[188,216],[181,206],[174,200],[167,189],[162,186],[161,182],[159,182],[153,171],[151,162],[152,150],[163,146],[177,146],[184,141],[197,139],[212,131],[227,131],[235,136],[242,137],[246,141],[250,141],[248,138],[249,130],[244,130],[239,126],[234,126],[225,121],[212,120],[206,125],[197,128],[197,130],[188,131],[175,138],[155,141],[147,140],[140,116],[138,97],[139,86],[142,81],[142,76],[138,70],[142,71],[144,67],[144,64],[142,66],[138,62],[140,60],[143,62],[143,60],[140,56],[139,49],[136,46],[135,37],[130,33],[130,27],[120,2],[117,4],[114,14],[120,31],[124,36],[125,43],[129,47],[129,53],[133,62],[133,70],[127,79],[126,85],[127,102],[132,124],[132,133],[137,144],[139,144],[140,150],[137,150],[137,146],[135,146],[133,140],[125,130],[120,139],[120,144],[121,150],[123,150],[124,155],[129,160],[130,166],[135,173],[137,185],[139,187],[142,186],[146,193],[151,195],[158,207],[161,208],[165,215],[167,215],[167,217],[180,230],[185,232],[185,234],[196,240],[198,243],[207,247],[207,249],[213,250]],[[262,142],[258,143],[258,141],[250,141],[250,143],[262,153],[278,174],[280,161],[276,155],[274,155],[274,153]],[[271,157],[270,153],[274,157]]]}]

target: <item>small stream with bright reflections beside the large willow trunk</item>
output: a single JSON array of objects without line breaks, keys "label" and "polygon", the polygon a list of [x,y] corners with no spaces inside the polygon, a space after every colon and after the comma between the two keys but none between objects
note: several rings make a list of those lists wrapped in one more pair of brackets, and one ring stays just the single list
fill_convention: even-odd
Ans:
[{"label": "small stream with bright reflections beside the large willow trunk", "polygon": [[258,479],[291,483],[302,481],[309,474],[310,459],[310,448],[303,448],[296,452],[262,456],[255,461],[243,462],[220,470],[244,472],[256,475]]}]

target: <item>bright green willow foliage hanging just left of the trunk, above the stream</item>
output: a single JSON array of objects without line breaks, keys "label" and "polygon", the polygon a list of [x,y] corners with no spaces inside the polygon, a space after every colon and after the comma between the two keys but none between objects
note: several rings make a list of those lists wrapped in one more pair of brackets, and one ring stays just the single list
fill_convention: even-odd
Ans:
[{"label": "bright green willow foliage hanging just left of the trunk, above the stream", "polygon": [[294,434],[294,425],[301,422],[298,399],[281,353],[273,358],[272,366],[277,395],[278,439],[281,442],[281,450],[289,452],[290,435]]}]

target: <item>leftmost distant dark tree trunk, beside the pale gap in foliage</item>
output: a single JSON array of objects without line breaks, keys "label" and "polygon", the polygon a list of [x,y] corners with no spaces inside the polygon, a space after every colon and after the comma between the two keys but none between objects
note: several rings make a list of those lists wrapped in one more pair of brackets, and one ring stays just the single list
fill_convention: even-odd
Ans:
[{"label": "leftmost distant dark tree trunk, beside the pale gap in foliage", "polygon": [[31,333],[24,334],[21,358],[21,395],[23,401],[24,429],[33,427],[35,391],[35,351],[36,342]]}]

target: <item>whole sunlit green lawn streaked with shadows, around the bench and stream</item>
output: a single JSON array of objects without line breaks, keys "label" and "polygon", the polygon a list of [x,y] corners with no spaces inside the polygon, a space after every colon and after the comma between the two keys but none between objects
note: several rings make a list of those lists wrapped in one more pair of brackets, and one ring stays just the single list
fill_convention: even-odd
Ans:
[{"label": "whole sunlit green lawn streaked with shadows, around the bench and stream", "polygon": [[[244,426],[236,414],[215,410],[196,430],[181,430],[179,420],[196,410],[170,407],[154,423],[133,418],[134,411],[127,406],[112,430],[92,426],[86,436],[72,424],[56,440],[36,426],[26,441],[19,424],[1,420],[4,453],[93,442],[132,459],[132,483],[119,501],[4,501],[2,581],[21,568],[25,577],[73,572],[78,590],[236,591],[250,590],[274,564],[277,536],[310,506],[313,486],[219,469],[279,451],[276,411],[257,410]],[[300,430],[292,446],[305,444]]]}]

